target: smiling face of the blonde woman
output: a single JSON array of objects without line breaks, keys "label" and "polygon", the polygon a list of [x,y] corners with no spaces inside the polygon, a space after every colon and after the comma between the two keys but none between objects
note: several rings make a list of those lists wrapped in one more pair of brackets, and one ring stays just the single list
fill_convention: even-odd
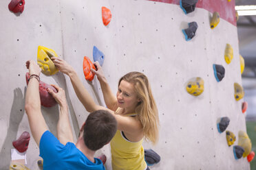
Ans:
[{"label": "smiling face of the blonde woman", "polygon": [[120,82],[116,98],[118,100],[118,107],[125,108],[130,111],[134,111],[139,101],[134,91],[134,84],[125,82],[125,80]]}]

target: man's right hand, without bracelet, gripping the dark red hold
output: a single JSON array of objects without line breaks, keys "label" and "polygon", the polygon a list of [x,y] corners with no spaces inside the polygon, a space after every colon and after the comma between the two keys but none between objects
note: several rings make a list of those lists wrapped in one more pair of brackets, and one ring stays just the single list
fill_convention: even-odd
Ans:
[{"label": "man's right hand, without bracelet, gripping the dark red hold", "polygon": [[54,91],[50,88],[47,88],[47,92],[50,93],[52,95],[52,97],[54,97],[54,99],[57,101],[57,103],[60,106],[66,106],[67,105],[67,99],[65,96],[65,90],[63,90],[63,88],[60,88],[57,85],[51,84],[51,86],[53,86],[54,88],[56,88],[57,93],[54,93]]}]

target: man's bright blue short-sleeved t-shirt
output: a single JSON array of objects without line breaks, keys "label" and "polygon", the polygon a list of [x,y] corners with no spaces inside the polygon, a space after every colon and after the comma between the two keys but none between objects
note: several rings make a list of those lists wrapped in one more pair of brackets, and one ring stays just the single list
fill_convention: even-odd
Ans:
[{"label": "man's bright blue short-sleeved t-shirt", "polygon": [[43,133],[39,148],[44,170],[105,170],[100,159],[94,158],[95,163],[90,161],[74,143],[63,145],[48,130]]}]

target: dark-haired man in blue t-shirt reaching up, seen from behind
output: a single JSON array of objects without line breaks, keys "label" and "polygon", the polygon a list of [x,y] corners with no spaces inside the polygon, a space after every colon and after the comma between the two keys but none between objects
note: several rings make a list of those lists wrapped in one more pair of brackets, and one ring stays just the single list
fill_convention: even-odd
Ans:
[{"label": "dark-haired man in blue t-shirt reaching up, seen from behind", "polygon": [[83,169],[105,170],[103,162],[94,158],[96,150],[100,149],[116,134],[116,119],[106,110],[92,112],[83,123],[76,145],[68,116],[68,106],[65,91],[56,86],[57,93],[47,89],[59,105],[57,138],[47,130],[45,119],[41,113],[39,96],[39,75],[41,69],[36,62],[26,62],[30,78],[25,95],[25,111],[28,115],[30,129],[34,141],[39,145],[40,156],[43,158],[43,169]]}]

